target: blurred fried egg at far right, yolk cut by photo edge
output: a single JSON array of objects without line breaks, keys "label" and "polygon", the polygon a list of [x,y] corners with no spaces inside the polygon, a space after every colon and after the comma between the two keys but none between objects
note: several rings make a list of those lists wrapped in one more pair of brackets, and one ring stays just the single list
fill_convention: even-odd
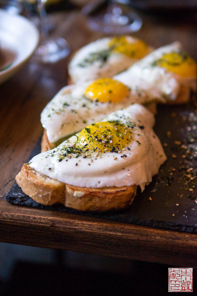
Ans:
[{"label": "blurred fried egg at far right, yolk cut by photo edge", "polygon": [[133,95],[165,102],[175,100],[182,87],[196,91],[196,62],[176,41],[156,49],[113,78],[129,86]]}]

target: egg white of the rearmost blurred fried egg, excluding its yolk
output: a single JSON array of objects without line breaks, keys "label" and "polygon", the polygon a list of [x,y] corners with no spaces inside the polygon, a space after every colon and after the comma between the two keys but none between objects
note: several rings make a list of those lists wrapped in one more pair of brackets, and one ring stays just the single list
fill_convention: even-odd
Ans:
[{"label": "egg white of the rearmost blurred fried egg, excluding its yolk", "polygon": [[[137,41],[137,38],[127,36],[131,42]],[[74,83],[78,81],[91,81],[98,78],[112,77],[133,65],[138,59],[131,58],[120,52],[110,51],[105,62],[95,60],[92,64],[84,63],[92,53],[98,53],[109,49],[111,37],[105,37],[93,41],[76,52],[68,65],[68,73]],[[148,53],[152,47],[148,47]],[[85,65],[85,66],[84,66]]]}]

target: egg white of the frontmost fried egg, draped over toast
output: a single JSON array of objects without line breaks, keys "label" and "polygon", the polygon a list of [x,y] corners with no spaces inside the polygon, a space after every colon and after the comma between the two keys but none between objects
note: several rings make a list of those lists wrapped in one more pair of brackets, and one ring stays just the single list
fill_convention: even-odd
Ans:
[{"label": "egg white of the frontmost fried egg, draped over toast", "polygon": [[[29,165],[38,172],[60,182],[79,187],[122,187],[139,185],[142,190],[158,173],[166,160],[162,145],[152,130],[154,116],[140,104],[133,104],[115,111],[103,121],[118,120],[124,125],[131,124],[132,139],[120,153],[82,152],[76,158],[73,153],[62,158],[65,147],[72,146],[77,135],[64,141],[55,149],[36,155]],[[143,128],[142,128],[143,126]],[[90,149],[89,149],[90,150]],[[87,155],[84,158],[84,155]]]}]

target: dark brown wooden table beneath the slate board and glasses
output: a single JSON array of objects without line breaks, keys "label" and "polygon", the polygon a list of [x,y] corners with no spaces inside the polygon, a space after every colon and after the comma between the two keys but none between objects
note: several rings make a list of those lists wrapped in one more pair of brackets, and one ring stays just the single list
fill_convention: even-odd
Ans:
[{"label": "dark brown wooden table beneath the slate board and glasses", "polygon": [[[174,14],[175,15],[175,14]],[[72,52],[102,36],[90,31],[78,10],[54,13],[52,34],[67,39]],[[134,33],[158,47],[180,40],[195,59],[196,23],[191,16],[142,15]],[[190,20],[190,21],[189,21]],[[67,60],[36,65],[31,60],[0,86],[0,196],[12,187],[16,174],[42,134],[40,112],[66,84]],[[131,258],[177,266],[197,264],[196,234],[168,231],[81,215],[11,205],[0,199],[0,241],[45,248]]]}]

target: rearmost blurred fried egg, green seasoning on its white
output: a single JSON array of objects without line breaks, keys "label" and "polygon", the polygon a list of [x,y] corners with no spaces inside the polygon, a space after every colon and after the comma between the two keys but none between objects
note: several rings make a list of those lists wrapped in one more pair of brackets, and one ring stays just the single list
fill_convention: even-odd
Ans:
[{"label": "rearmost blurred fried egg, green seasoning on its white", "polygon": [[150,53],[152,48],[131,36],[106,37],[82,47],[68,65],[72,81],[112,77]]}]

